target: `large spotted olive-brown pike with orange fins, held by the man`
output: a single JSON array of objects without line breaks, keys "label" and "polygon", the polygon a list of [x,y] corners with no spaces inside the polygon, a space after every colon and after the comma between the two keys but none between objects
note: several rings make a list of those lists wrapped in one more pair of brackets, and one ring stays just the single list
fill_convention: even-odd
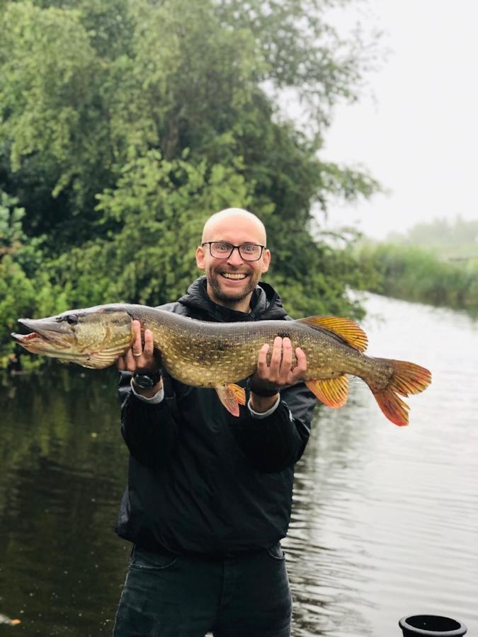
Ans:
[{"label": "large spotted olive-brown pike with orange fins, held by the man", "polygon": [[[428,369],[411,362],[372,358],[363,353],[367,336],[350,319],[311,316],[297,321],[208,323],[142,305],[108,304],[64,312],[47,319],[20,319],[30,330],[12,334],[25,350],[103,369],[131,347],[132,321],[153,333],[164,368],[178,381],[213,387],[224,407],[239,415],[245,404],[237,383],[254,374],[258,351],[288,336],[292,350],[307,356],[305,383],[329,407],[348,397],[348,374],[360,377],[372,390],[382,412],[396,425],[408,424],[409,406],[399,398],[418,394],[431,381]],[[293,365],[297,361],[293,360]]]}]

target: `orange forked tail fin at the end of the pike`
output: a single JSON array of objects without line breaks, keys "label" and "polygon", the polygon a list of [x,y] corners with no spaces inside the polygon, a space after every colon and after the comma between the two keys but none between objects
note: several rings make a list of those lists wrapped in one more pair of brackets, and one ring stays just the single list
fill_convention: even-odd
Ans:
[{"label": "orange forked tail fin at the end of the pike", "polygon": [[425,367],[404,360],[381,358],[391,365],[394,374],[386,389],[372,389],[375,400],[382,412],[395,425],[402,427],[409,424],[409,406],[397,394],[409,396],[419,394],[431,383],[431,373]]}]

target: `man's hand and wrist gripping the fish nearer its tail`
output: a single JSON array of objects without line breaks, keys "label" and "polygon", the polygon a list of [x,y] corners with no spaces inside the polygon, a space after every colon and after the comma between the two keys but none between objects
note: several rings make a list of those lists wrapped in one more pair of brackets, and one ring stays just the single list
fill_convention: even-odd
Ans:
[{"label": "man's hand and wrist gripping the fish nearer its tail", "polygon": [[[285,338],[275,337],[269,364],[267,362],[268,351],[269,345],[265,343],[259,351],[257,371],[249,379],[251,407],[254,411],[259,412],[271,408],[277,401],[279,390],[302,380],[307,371],[307,358],[301,348],[295,348],[297,365],[292,368],[292,343],[287,336]],[[257,390],[257,394],[254,389]],[[269,394],[274,390],[273,396],[261,396],[261,391]]]}]

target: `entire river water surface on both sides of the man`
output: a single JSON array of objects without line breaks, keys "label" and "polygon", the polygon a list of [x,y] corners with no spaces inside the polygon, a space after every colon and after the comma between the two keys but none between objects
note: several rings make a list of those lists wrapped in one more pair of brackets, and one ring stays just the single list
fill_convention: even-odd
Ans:
[{"label": "entire river water surface on both sides of the man", "polygon": [[[398,637],[399,617],[422,613],[478,634],[478,323],[367,306],[370,355],[419,362],[433,384],[407,399],[409,427],[359,380],[317,412],[284,542],[293,635]],[[0,634],[111,633],[130,550],[113,532],[127,468],[115,381],[54,362],[1,386],[0,613],[22,623]]]}]

